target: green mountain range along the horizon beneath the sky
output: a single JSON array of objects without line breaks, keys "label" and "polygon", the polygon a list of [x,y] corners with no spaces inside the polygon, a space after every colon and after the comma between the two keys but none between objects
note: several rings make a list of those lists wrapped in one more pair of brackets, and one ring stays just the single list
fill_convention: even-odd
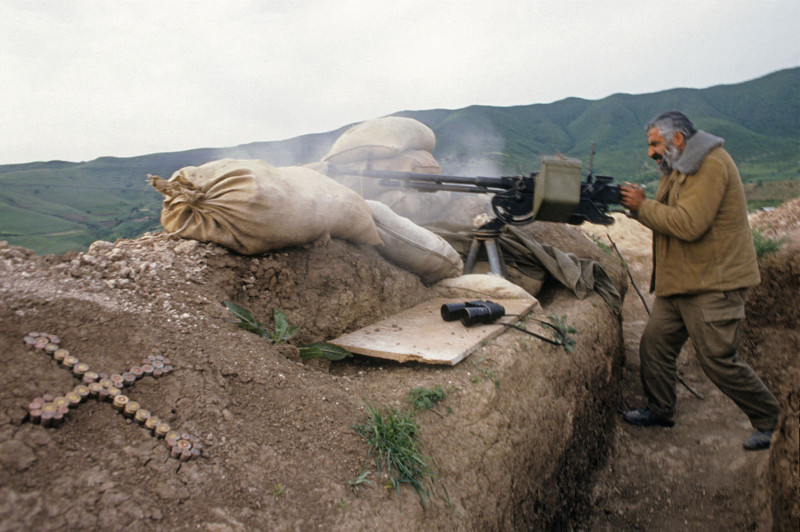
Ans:
[{"label": "green mountain range along the horizon beneath the sky", "polygon": [[[680,109],[699,128],[724,137],[746,182],[796,185],[800,67],[707,89],[396,115],[433,129],[434,155],[447,173],[527,174],[538,170],[543,155],[553,153],[582,159],[586,170],[594,145],[596,173],[620,182],[648,182],[657,174],[646,156],[644,124],[668,109]],[[348,127],[230,148],[0,165],[0,239],[37,253],[63,253],[86,249],[95,240],[158,229],[161,197],[146,183],[148,174],[169,177],[184,166],[223,157],[263,159],[275,166],[309,163],[319,160]]]}]

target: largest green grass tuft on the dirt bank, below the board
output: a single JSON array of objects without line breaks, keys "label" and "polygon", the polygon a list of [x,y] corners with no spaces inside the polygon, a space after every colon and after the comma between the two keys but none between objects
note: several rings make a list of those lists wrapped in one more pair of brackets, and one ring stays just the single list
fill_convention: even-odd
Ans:
[{"label": "largest green grass tuft on the dirt bank, below the board", "polygon": [[365,408],[364,423],[351,428],[369,445],[367,459],[373,457],[378,474],[383,472],[398,494],[409,484],[427,506],[435,472],[432,459],[420,450],[420,427],[413,415],[369,403]]}]

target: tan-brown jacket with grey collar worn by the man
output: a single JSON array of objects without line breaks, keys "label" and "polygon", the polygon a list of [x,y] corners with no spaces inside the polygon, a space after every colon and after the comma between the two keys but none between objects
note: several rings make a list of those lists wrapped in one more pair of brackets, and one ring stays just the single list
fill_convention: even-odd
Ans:
[{"label": "tan-brown jacket with grey collar worn by the man", "polygon": [[653,230],[656,296],[734,290],[761,282],[739,170],[723,140],[704,131],[687,142],[639,221]]}]

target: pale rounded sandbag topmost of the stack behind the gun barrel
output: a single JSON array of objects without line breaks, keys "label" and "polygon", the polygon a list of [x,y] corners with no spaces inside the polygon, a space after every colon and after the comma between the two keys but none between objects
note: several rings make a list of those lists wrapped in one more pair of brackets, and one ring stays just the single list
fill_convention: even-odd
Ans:
[{"label": "pale rounded sandbag topmost of the stack behind the gun barrel", "polygon": [[342,133],[322,161],[343,164],[387,159],[409,150],[432,152],[435,147],[433,130],[422,122],[387,116],[361,122]]}]

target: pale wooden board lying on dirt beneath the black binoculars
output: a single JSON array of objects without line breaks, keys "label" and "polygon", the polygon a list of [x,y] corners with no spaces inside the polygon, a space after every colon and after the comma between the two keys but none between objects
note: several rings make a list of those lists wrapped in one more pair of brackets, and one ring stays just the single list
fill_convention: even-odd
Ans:
[{"label": "pale wooden board lying on dirt beneath the black binoculars", "polygon": [[[538,305],[535,299],[493,299],[503,305],[506,316],[498,321],[514,323]],[[480,347],[481,342],[502,333],[502,325],[465,327],[461,321],[444,321],[441,307],[463,303],[463,299],[431,299],[385,320],[331,340],[351,353],[398,362],[456,365]],[[518,316],[508,316],[515,314]]]}]

